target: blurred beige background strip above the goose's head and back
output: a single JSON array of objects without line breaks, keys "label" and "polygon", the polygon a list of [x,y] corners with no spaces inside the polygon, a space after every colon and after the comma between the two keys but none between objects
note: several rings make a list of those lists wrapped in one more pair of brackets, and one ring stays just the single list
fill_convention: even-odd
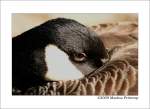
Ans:
[{"label": "blurred beige background strip above the goose's head and back", "polygon": [[78,22],[86,25],[93,26],[100,23],[114,23],[120,21],[137,21],[137,14],[128,13],[108,13],[108,14],[77,14],[77,13],[56,13],[56,14],[33,14],[33,13],[14,13],[12,14],[12,36],[15,37],[22,32],[31,29],[49,19],[54,19],[58,17],[71,18],[77,20]]}]

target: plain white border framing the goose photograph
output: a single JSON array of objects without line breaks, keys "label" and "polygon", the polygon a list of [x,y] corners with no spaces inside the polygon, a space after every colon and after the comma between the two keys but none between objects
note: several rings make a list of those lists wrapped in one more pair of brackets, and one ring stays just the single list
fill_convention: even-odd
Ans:
[{"label": "plain white border framing the goose photograph", "polygon": [[[148,1],[1,1],[1,106],[3,108],[148,108],[149,2]],[[139,99],[110,100],[97,96],[12,96],[12,13],[138,13]]]}]

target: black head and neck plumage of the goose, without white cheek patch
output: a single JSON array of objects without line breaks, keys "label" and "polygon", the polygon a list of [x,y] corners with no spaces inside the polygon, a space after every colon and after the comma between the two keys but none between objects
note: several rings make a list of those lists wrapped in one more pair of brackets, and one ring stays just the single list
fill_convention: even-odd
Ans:
[{"label": "black head and neck plumage of the goose, without white cheek patch", "polygon": [[[86,26],[65,18],[49,20],[12,39],[13,87],[25,90],[46,82],[45,47],[49,44],[64,51],[84,75],[102,66],[102,60],[108,58],[102,41]],[[77,62],[76,57],[80,59],[83,53],[86,58]]]}]

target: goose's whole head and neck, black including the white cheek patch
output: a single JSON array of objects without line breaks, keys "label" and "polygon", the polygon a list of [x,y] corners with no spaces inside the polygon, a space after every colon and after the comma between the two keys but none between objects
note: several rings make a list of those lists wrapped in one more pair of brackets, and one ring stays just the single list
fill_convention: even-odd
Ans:
[{"label": "goose's whole head and neck, black including the white cheek patch", "polygon": [[12,87],[81,79],[107,61],[94,31],[75,20],[52,19],[12,39]]}]

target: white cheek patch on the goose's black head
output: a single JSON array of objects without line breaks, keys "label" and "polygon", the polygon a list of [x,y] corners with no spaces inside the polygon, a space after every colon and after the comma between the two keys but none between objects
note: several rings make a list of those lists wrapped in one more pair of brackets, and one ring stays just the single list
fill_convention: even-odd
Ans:
[{"label": "white cheek patch on the goose's black head", "polygon": [[73,80],[84,77],[69,60],[68,55],[54,45],[46,47],[45,61],[48,67],[46,80]]}]

